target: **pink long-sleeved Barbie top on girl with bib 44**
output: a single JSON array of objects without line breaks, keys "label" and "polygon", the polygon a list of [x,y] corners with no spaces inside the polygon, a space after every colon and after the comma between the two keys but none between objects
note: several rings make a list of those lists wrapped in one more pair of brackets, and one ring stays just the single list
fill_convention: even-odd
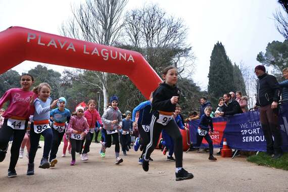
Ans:
[{"label": "pink long-sleeved Barbie top on girl with bib 44", "polygon": [[32,91],[24,91],[21,88],[12,88],[6,91],[0,99],[0,108],[7,101],[10,101],[10,104],[3,117],[8,119],[16,116],[28,119],[34,113],[34,106],[30,106],[30,97],[36,98],[37,96]]}]

